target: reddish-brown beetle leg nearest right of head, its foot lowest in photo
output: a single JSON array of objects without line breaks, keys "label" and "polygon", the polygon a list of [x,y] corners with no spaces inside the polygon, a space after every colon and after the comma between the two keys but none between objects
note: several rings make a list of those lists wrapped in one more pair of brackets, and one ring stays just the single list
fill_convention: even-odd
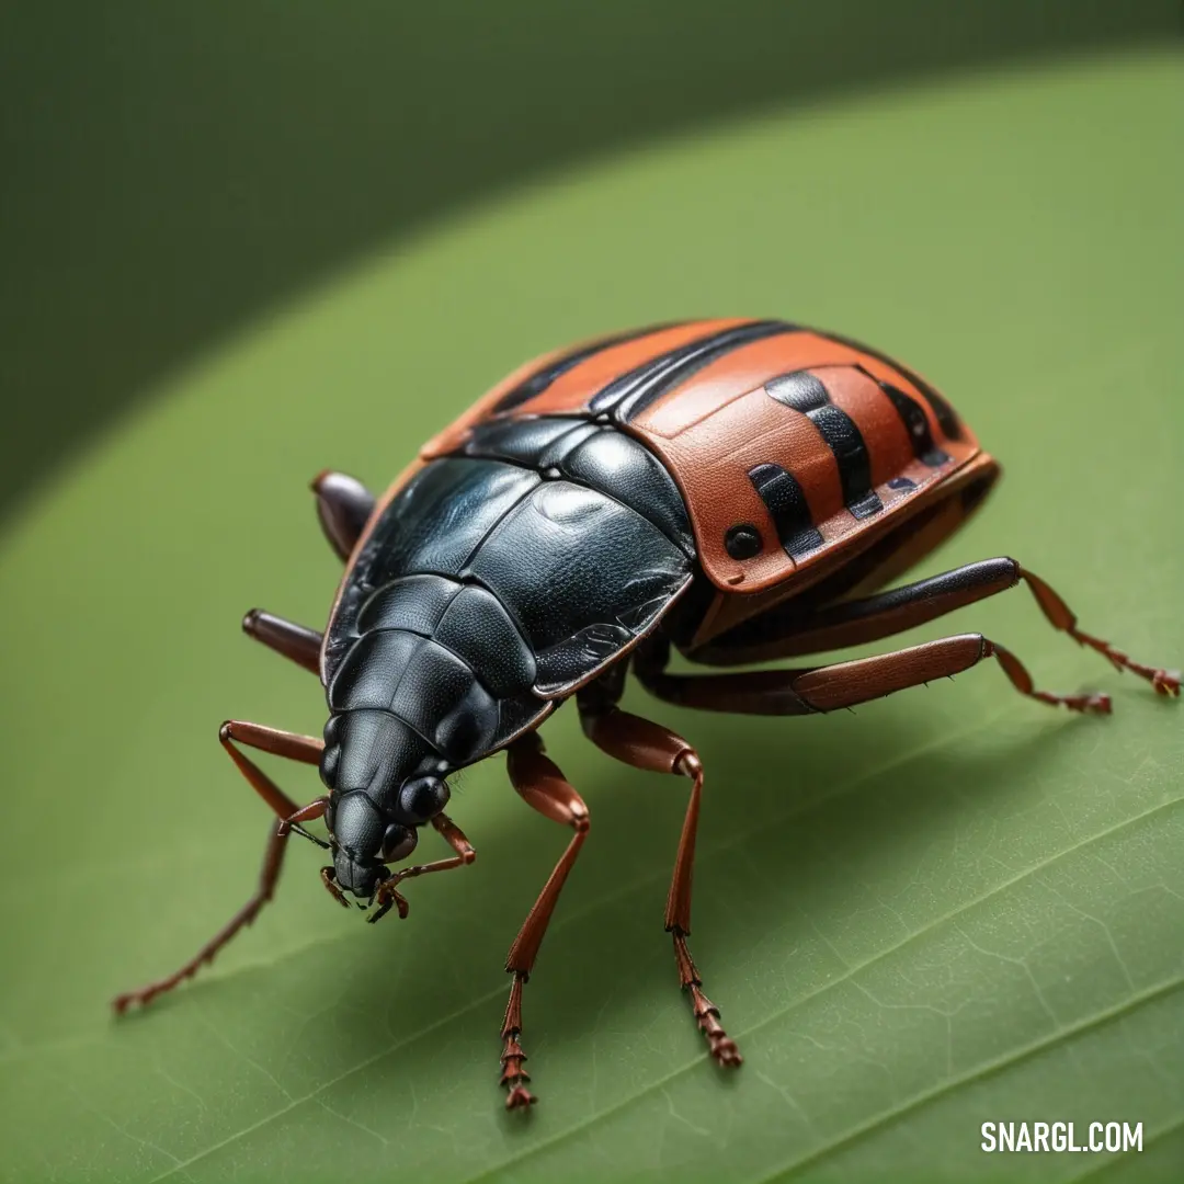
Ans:
[{"label": "reddish-brown beetle leg nearest right of head, its foot lowest in photo", "polygon": [[555,910],[559,894],[564,889],[568,873],[575,864],[584,839],[587,837],[590,818],[584,799],[567,784],[559,767],[543,755],[542,741],[530,732],[509,746],[506,768],[510,783],[526,803],[553,822],[571,826],[575,834],[560,856],[555,870],[539,893],[519,935],[506,958],[506,970],[514,976],[510,998],[502,1022],[502,1077],[506,1086],[506,1108],[517,1109],[535,1101],[526,1083],[530,1074],[522,1068],[526,1053],[522,1051],[522,986],[530,977],[534,960],[551,915]]}]

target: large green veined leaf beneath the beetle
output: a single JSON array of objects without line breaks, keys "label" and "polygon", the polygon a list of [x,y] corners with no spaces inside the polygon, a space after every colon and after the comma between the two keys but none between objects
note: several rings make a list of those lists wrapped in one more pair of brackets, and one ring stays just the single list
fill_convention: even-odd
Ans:
[{"label": "large green veined leaf beneath the beetle", "polygon": [[[570,339],[752,314],[903,356],[1006,469],[926,570],[1012,554],[1085,628],[1178,664],[1180,77],[1172,57],[1077,63],[601,162],[278,311],[47,493],[0,571],[0,1172],[1166,1178],[1180,715],[1023,591],[907,642],[982,630],[1041,684],[1111,690],[1113,719],[1054,713],[990,667],[813,720],[630,693],[708,770],[691,945],[739,1073],[707,1062],[662,932],[686,787],[610,764],[570,712],[546,734],[593,829],[526,991],[528,1115],[496,1086],[501,965],[566,835],[500,759],[453,803],[477,863],[411,884],[408,920],[346,916],[300,845],[212,970],[123,1022],[107,1000],[252,886],[266,812],[218,723],[322,722],[315,683],[238,632],[252,603],[326,617],[339,568],[308,478],[384,483]],[[276,774],[315,793],[310,770]],[[1023,1119],[1141,1122],[1147,1150],[979,1151],[980,1124]]]}]

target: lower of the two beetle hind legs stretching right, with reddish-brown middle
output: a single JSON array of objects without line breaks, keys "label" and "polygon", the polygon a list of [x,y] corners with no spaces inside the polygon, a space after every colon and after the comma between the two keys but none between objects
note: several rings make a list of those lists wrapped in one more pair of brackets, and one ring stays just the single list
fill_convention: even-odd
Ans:
[{"label": "lower of the two beetle hind legs stretching right, with reddish-brown middle", "polygon": [[815,669],[677,675],[639,667],[637,676],[651,694],[669,703],[748,715],[807,715],[882,699],[933,678],[952,678],[987,657],[998,661],[1023,695],[1073,712],[1109,714],[1108,695],[1055,695],[1036,690],[1023,663],[982,633],[941,637],[906,650]]}]

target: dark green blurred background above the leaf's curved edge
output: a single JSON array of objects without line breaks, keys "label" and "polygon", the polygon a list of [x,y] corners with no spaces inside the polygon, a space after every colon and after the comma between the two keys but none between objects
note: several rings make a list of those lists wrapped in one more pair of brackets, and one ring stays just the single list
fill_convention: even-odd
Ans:
[{"label": "dark green blurred background above the leaf's curved edge", "polygon": [[491,191],[1179,25],[1177,0],[0,5],[0,513],[205,347]]}]

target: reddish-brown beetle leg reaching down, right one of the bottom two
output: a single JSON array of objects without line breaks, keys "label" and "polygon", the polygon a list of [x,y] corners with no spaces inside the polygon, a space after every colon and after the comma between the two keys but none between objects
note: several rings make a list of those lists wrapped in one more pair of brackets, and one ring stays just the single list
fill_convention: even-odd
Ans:
[{"label": "reddish-brown beetle leg reaching down, right one of the bottom two", "polygon": [[580,723],[587,738],[610,757],[655,773],[676,773],[690,778],[690,800],[678,839],[674,876],[667,896],[665,927],[674,939],[674,955],[678,982],[688,993],[691,1011],[700,1031],[716,1062],[735,1068],[744,1057],[735,1041],[720,1023],[720,1009],[703,993],[703,980],[687,948],[690,935],[690,888],[695,866],[695,835],[699,830],[699,807],[703,792],[703,766],[699,754],[682,736],[658,723],[630,715],[598,694],[596,683],[578,697]]}]

